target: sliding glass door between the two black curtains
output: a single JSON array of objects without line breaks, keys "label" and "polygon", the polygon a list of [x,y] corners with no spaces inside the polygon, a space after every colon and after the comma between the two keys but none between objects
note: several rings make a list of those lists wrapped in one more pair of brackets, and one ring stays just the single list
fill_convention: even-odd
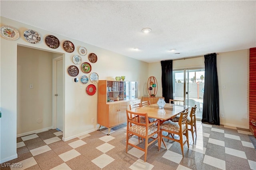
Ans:
[{"label": "sliding glass door between the two black curtains", "polygon": [[173,70],[174,100],[184,100],[186,105],[197,105],[196,118],[202,119],[204,97],[204,68]]}]

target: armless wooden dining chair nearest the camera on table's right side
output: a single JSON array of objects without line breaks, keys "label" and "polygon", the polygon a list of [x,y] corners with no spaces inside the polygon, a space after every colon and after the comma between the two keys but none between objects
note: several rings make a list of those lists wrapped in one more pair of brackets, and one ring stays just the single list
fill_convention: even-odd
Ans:
[{"label": "armless wooden dining chair nearest the camera on table's right side", "polygon": [[[179,142],[183,157],[184,157],[183,146],[184,146],[184,144],[186,144],[186,142],[188,144],[187,118],[188,118],[188,109],[185,110],[184,112],[180,113],[179,122],[166,121],[160,125],[160,141],[163,141],[165,148],[166,148],[166,144],[165,144],[163,138],[167,138],[168,140],[173,140],[173,141]],[[162,134],[163,132],[167,132],[168,135],[164,136]],[[174,138],[175,134],[178,135],[179,138]],[[170,137],[170,135],[172,136],[172,138]],[[183,140],[183,136],[186,136],[186,140]],[[188,148],[189,148],[189,144],[188,144]]]}]

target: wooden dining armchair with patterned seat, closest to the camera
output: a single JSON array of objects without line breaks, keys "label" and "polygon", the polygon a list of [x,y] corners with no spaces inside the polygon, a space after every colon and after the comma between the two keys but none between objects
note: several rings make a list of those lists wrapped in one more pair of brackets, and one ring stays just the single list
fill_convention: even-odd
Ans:
[{"label": "wooden dining armchair with patterned seat, closest to the camera", "polygon": [[[130,110],[126,110],[126,116],[127,116],[127,128],[126,128],[126,153],[128,151],[128,145],[133,146],[139,150],[142,150],[145,152],[144,155],[144,162],[146,162],[147,158],[147,152],[148,152],[148,146],[150,146],[152,143],[154,143],[156,140],[158,141],[158,150],[160,150],[160,125],[159,120],[156,120],[154,122],[149,123],[141,122],[140,117],[144,116],[146,119],[148,119],[147,113],[137,113],[132,112]],[[157,125],[156,125],[157,124]],[[154,137],[154,135],[157,134],[157,137]],[[129,142],[129,139],[131,136],[138,136],[138,138],[144,138],[145,140],[145,147],[141,148],[139,146],[134,145],[133,143]],[[148,141],[149,139],[150,142]]]}]

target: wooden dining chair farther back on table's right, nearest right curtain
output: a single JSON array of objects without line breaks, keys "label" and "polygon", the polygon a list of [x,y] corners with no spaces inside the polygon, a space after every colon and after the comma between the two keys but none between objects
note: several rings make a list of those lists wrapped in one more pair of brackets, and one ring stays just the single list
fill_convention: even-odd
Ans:
[{"label": "wooden dining chair farther back on table's right, nearest right curtain", "polygon": [[[190,115],[188,116],[188,130],[192,134],[193,144],[194,144],[194,133],[196,133],[196,105],[191,108]],[[178,122],[180,119],[180,116],[176,116],[175,118],[172,118],[172,122]],[[197,137],[197,134],[196,134]]]}]

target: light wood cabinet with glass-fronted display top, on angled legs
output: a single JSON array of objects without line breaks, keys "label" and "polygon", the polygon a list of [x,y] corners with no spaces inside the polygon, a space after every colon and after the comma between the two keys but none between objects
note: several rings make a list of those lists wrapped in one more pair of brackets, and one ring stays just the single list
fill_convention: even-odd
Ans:
[{"label": "light wood cabinet with glass-fronted display top, on angled legs", "polygon": [[138,82],[99,80],[98,124],[108,128],[107,135],[112,127],[127,121],[126,110],[129,104],[140,103],[137,95]]}]

